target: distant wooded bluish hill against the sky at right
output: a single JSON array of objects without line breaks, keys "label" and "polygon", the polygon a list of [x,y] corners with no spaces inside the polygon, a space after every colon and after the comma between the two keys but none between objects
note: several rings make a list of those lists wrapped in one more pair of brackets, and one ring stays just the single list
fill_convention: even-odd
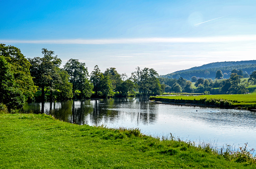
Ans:
[{"label": "distant wooded bluish hill against the sky at right", "polygon": [[215,79],[216,71],[221,70],[222,73],[226,73],[224,78],[229,78],[232,70],[242,70],[244,73],[249,75],[256,70],[256,60],[250,61],[236,61],[236,62],[214,62],[206,65],[193,67],[186,70],[176,71],[167,75],[161,75],[160,77],[165,78],[176,78],[183,77],[187,80],[191,80],[191,77],[196,76],[198,78],[211,78]]}]

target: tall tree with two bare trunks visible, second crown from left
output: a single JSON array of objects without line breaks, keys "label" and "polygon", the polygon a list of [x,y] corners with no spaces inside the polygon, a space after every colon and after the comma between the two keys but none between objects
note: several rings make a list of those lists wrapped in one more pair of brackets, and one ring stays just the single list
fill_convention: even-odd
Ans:
[{"label": "tall tree with two bare trunks visible, second crown from left", "polygon": [[43,58],[35,57],[29,59],[31,63],[30,72],[35,77],[34,83],[41,89],[41,101],[45,100],[45,88],[50,90],[51,98],[52,93],[55,90],[55,85],[61,83],[61,77],[58,74],[58,67],[61,64],[61,60],[54,56],[53,51],[42,49]]}]

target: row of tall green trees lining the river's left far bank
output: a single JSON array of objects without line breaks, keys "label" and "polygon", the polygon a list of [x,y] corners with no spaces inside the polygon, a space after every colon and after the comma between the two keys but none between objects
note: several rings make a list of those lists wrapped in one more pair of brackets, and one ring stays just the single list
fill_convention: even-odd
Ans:
[{"label": "row of tall green trees lining the river's left far bank", "polygon": [[116,68],[101,72],[96,65],[89,74],[85,63],[61,59],[42,49],[42,57],[25,58],[14,46],[0,44],[0,109],[19,109],[26,101],[54,101],[71,98],[135,96],[160,94],[164,85],[154,69],[139,67],[131,75]]}]

